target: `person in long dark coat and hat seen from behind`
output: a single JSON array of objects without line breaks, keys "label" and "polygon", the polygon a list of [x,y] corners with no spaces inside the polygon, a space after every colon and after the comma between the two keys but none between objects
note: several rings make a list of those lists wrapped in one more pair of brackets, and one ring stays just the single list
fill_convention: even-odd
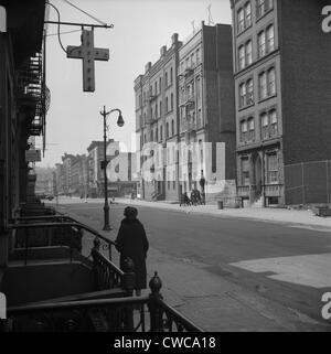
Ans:
[{"label": "person in long dark coat and hat seen from behind", "polygon": [[116,249],[120,253],[120,268],[125,268],[125,260],[129,257],[135,264],[136,273],[136,294],[140,296],[141,289],[147,288],[146,257],[149,243],[143,225],[137,218],[136,207],[127,206],[124,215],[126,216],[120,224],[116,238]]}]

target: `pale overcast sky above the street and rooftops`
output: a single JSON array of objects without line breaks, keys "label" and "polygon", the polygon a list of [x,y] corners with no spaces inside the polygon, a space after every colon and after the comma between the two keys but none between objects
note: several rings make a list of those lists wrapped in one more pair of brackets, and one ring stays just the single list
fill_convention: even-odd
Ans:
[{"label": "pale overcast sky above the street and rooftops", "polygon": [[[70,0],[95,18],[113,23],[114,29],[95,29],[94,43],[109,49],[108,62],[96,62],[96,89],[83,92],[81,60],[67,58],[61,49],[57,26],[49,25],[46,83],[51,90],[51,107],[46,117],[46,151],[38,165],[53,167],[61,155],[86,153],[92,140],[103,140],[104,105],[107,110],[120,108],[125,126],[116,126],[117,114],[108,117],[108,137],[130,147],[135,132],[134,81],[143,74],[147,62],[154,63],[160,47],[171,44],[171,35],[179,33],[184,41],[201,21],[209,24],[207,7],[214,23],[231,23],[229,0]],[[96,23],[64,0],[51,0],[61,13],[61,21]],[[50,20],[57,21],[50,10]],[[61,32],[77,30],[61,26]],[[62,34],[63,45],[81,45],[81,32]],[[40,147],[40,146],[39,146]]]}]

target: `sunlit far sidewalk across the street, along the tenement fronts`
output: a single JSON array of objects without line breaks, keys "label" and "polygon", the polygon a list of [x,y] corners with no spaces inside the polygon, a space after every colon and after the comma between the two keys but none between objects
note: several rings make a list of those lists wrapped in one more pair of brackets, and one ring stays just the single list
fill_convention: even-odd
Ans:
[{"label": "sunlit far sidewalk across the street, along the tenement fronts", "polygon": [[[92,200],[89,201],[92,203]],[[218,210],[216,204],[180,206],[169,202],[147,202],[141,200],[116,199],[116,203],[126,205],[147,206],[189,214],[205,214],[223,218],[246,218],[260,222],[292,224],[300,227],[313,227],[331,232],[331,217],[316,216],[312,211],[297,211],[274,207],[243,207]]]}]

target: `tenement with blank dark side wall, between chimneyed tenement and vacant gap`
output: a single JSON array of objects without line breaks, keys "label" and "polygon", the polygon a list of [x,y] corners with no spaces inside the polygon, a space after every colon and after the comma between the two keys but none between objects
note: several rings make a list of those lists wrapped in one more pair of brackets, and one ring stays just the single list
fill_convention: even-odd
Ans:
[{"label": "tenement with blank dark side wall, between chimneyed tenement and vacant gap", "polygon": [[179,165],[181,190],[220,196],[235,179],[235,111],[231,25],[205,25],[180,49]]}]

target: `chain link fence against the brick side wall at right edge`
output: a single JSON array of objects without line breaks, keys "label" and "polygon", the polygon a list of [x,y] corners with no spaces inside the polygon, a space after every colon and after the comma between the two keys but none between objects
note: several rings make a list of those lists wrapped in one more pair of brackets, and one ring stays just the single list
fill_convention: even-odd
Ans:
[{"label": "chain link fence against the brick side wall at right edge", "polygon": [[285,165],[287,205],[331,203],[331,160]]}]

